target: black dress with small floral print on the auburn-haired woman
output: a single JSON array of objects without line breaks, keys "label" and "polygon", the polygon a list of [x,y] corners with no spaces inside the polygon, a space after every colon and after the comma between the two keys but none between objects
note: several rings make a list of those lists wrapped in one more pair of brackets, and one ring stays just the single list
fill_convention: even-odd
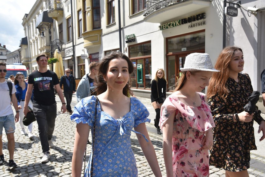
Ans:
[{"label": "black dress with small floral print on the auburn-haired woman", "polygon": [[214,145],[210,151],[210,165],[228,171],[249,168],[250,150],[256,150],[253,120],[260,123],[261,111],[255,110],[251,122],[234,122],[233,114],[244,111],[253,92],[248,74],[238,74],[239,82],[228,78],[226,100],[218,94],[208,99],[216,127],[213,128]]}]

